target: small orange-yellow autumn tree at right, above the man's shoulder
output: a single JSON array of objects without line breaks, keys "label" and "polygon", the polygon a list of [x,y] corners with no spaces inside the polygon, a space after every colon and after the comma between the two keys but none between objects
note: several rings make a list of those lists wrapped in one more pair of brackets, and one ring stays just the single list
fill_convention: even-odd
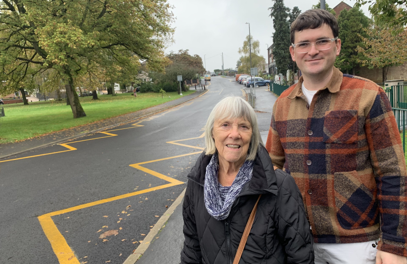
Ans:
[{"label": "small orange-yellow autumn tree at right, above the man's shoulder", "polygon": [[[382,68],[382,80],[387,80],[390,66],[399,66],[407,62],[407,31],[372,24],[365,29],[363,45],[357,47],[364,58],[359,61],[362,66]],[[400,32],[392,34],[391,32]]]}]

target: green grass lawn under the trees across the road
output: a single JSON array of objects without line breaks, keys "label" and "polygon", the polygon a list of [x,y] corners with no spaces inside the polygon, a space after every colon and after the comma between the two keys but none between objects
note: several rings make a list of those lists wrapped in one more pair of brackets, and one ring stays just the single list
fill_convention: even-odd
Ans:
[{"label": "green grass lawn under the trees across the road", "polygon": [[[195,92],[185,91],[183,95]],[[171,98],[169,98],[171,96]],[[130,93],[99,95],[100,100],[93,101],[92,96],[80,98],[86,117],[74,119],[70,106],[66,102],[40,101],[3,105],[5,116],[0,118],[0,144],[25,140],[41,134],[60,131],[121,114],[153,107],[182,96],[177,92],[167,92],[164,98],[160,93]]]}]

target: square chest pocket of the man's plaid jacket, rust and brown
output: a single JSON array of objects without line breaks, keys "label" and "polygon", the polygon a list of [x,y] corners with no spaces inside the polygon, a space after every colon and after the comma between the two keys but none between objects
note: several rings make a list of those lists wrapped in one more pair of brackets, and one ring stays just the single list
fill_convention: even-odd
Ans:
[{"label": "square chest pocket of the man's plaid jacket, rust and brown", "polygon": [[325,143],[354,144],[357,141],[357,110],[334,110],[325,112]]}]

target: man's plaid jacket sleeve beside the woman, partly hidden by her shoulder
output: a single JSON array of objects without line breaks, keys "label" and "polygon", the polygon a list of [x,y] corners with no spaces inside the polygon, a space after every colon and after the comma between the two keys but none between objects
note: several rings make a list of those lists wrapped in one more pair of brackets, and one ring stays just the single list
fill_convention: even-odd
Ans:
[{"label": "man's plaid jacket sleeve beside the woman, partly hidden by her shoulder", "polygon": [[269,134],[267,135],[266,149],[269,153],[273,164],[279,169],[282,169],[282,166],[285,162],[284,149],[281,145],[280,135],[277,132],[276,128],[276,106],[278,105],[278,99],[273,106],[273,114],[271,116],[271,124],[269,129]]}]

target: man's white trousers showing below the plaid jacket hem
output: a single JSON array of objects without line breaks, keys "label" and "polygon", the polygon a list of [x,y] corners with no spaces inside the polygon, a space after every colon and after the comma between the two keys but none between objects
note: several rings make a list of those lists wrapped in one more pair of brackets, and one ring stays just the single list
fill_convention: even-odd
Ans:
[{"label": "man's white trousers showing below the plaid jacket hem", "polygon": [[378,242],[314,243],[315,264],[376,264]]}]

